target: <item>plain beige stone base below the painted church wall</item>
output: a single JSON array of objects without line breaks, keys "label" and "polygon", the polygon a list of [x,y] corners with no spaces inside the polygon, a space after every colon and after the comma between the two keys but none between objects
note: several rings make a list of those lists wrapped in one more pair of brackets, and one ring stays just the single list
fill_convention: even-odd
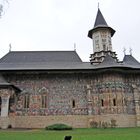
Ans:
[{"label": "plain beige stone base below the painted church wall", "polygon": [[[13,128],[45,128],[55,123],[64,123],[74,128],[88,128],[90,121],[110,122],[115,119],[117,127],[136,127],[135,115],[65,115],[65,116],[15,116],[8,119],[8,125]],[[0,126],[5,123],[0,118]],[[7,123],[6,123],[7,124]],[[7,125],[7,126],[8,126]]]}]

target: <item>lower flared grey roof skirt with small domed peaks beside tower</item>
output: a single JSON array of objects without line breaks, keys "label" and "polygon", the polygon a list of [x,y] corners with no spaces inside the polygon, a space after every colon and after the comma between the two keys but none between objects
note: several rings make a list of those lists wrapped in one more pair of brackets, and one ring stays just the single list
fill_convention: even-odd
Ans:
[{"label": "lower flared grey roof skirt with small domed peaks beside tower", "polygon": [[[55,52],[56,53],[56,52]],[[140,69],[140,63],[132,58],[132,56],[125,56],[124,62],[116,62],[110,55],[107,55],[104,61],[97,65],[92,65],[90,62],[70,62],[70,61],[43,61],[40,62],[34,60],[34,62],[25,62],[16,60],[16,56],[13,56],[13,60],[0,62],[0,71],[24,71],[24,70],[45,70],[45,71],[59,71],[59,70],[98,70],[105,68],[130,68]],[[5,59],[9,60],[9,59]],[[22,60],[22,59],[21,59]],[[131,63],[132,64],[131,64]]]}]

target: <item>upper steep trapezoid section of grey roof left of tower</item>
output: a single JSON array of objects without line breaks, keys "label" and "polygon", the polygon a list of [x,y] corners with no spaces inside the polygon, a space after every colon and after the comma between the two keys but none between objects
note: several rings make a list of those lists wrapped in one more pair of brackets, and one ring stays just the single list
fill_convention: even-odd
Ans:
[{"label": "upper steep trapezoid section of grey roof left of tower", "polygon": [[0,63],[82,62],[75,51],[11,51]]}]

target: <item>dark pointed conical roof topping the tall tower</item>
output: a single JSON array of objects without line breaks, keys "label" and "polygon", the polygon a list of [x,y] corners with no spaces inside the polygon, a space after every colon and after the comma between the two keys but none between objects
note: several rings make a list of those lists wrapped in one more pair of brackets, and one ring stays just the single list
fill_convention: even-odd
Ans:
[{"label": "dark pointed conical roof topping the tall tower", "polygon": [[107,22],[105,21],[105,18],[103,17],[100,9],[98,8],[98,12],[97,12],[96,20],[95,20],[95,23],[94,23],[94,27],[93,27],[93,29],[89,30],[88,37],[92,38],[93,32],[97,31],[100,28],[109,29],[110,32],[111,32],[111,36],[113,36],[114,33],[115,33],[115,30],[107,25]]}]

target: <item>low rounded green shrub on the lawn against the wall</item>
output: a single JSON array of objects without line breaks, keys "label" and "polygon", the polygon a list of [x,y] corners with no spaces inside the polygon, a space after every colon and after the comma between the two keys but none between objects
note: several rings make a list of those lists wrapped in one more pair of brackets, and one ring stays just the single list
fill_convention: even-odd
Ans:
[{"label": "low rounded green shrub on the lawn against the wall", "polygon": [[66,124],[53,124],[47,126],[45,129],[46,130],[72,130],[72,127]]}]

